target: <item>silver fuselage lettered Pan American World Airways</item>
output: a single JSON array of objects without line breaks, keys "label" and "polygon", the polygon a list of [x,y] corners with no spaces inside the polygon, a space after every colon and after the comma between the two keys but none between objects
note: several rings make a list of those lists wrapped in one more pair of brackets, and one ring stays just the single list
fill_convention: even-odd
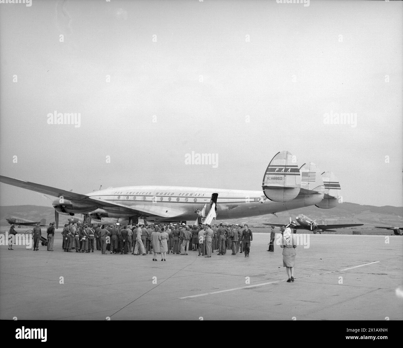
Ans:
[{"label": "silver fuselage lettered Pan American World Airways", "polygon": [[[276,213],[284,210],[314,205],[320,202],[323,194],[297,196],[288,202],[272,202],[262,191],[228,190],[212,188],[193,188],[180,186],[127,186],[91,192],[86,196],[94,200],[103,200],[123,204],[138,210],[160,210],[170,214],[170,218],[156,220],[195,220],[195,210],[207,204],[210,209],[212,195],[218,194],[216,200],[217,219],[236,219]],[[57,201],[55,201],[57,203]],[[130,217],[116,209],[97,209],[93,204],[72,204],[64,202],[63,210],[54,204],[61,213],[85,213],[91,217]],[[152,219],[152,215],[148,215]]]}]

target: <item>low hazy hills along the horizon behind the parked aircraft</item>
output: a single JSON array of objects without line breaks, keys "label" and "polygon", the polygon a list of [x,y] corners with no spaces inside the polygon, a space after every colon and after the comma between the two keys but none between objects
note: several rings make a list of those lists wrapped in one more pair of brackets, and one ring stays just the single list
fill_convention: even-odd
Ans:
[{"label": "low hazy hills along the horizon behind the parked aircraft", "polygon": [[[322,219],[324,223],[364,223],[370,225],[403,225],[403,207],[396,206],[372,206],[345,202],[338,204],[332,209],[320,209],[316,206],[298,208],[277,213],[278,217],[272,214],[261,215],[244,219],[234,219],[232,223],[248,223],[262,225],[262,223],[285,223],[291,216],[293,219],[299,214],[304,214],[318,223]],[[54,221],[54,209],[51,206],[16,205],[0,206],[0,224],[8,225],[6,217],[17,216],[23,219],[39,221],[46,219],[47,224]],[[77,216],[77,215],[76,215]],[[77,217],[81,217],[78,215]],[[59,215],[59,225],[67,222],[67,215]],[[217,216],[220,222],[220,215]]]}]

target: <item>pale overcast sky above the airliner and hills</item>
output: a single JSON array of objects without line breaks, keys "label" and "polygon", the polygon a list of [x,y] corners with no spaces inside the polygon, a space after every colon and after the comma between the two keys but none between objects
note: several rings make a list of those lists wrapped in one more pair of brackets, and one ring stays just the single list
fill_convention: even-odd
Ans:
[{"label": "pale overcast sky above the airliner and hills", "polygon": [[[78,193],[260,190],[289,150],[333,171],[344,201],[402,206],[402,7],[0,4],[0,174]],[[80,127],[48,124],[55,110],[79,113]],[[337,113],[349,124],[326,124]],[[218,162],[186,164],[192,151]],[[0,204],[50,201],[0,184]]]}]

